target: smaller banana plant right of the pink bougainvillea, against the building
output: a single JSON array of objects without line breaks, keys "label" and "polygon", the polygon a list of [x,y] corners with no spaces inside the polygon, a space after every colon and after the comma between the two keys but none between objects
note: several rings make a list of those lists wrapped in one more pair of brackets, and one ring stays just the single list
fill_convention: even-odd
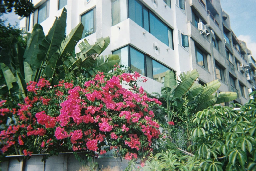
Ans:
[{"label": "smaller banana plant right of the pink bougainvillea, against the building", "polygon": [[189,99],[188,105],[194,106],[192,113],[237,98],[237,94],[234,92],[220,92],[217,95],[215,92],[220,87],[219,80],[211,81],[205,85],[195,84],[199,77],[196,70],[181,73],[179,77],[180,81],[176,81],[173,71],[168,70],[165,73],[164,87],[162,87],[161,94],[167,102],[168,121],[173,121],[172,114],[183,106],[184,96]]}]

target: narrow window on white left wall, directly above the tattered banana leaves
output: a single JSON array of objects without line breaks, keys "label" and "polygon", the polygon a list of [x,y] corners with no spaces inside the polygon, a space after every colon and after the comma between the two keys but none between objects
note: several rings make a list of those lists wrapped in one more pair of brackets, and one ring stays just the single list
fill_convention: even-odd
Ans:
[{"label": "narrow window on white left wall, directly above the tattered banana leaves", "polygon": [[81,15],[81,22],[84,26],[82,38],[96,32],[96,8]]}]

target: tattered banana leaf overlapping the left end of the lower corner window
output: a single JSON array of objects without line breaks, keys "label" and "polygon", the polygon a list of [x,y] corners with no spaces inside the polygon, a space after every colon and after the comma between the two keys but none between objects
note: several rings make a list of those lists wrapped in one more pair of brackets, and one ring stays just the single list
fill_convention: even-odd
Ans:
[{"label": "tattered banana leaf overlapping the left end of the lower corner window", "polygon": [[109,72],[113,69],[114,65],[118,65],[121,58],[118,55],[101,55],[96,58],[95,69],[102,72]]}]

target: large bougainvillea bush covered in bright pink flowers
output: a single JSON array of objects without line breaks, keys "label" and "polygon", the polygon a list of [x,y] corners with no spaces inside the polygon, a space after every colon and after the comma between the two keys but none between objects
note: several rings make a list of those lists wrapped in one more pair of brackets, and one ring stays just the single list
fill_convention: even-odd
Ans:
[{"label": "large bougainvillea bush covered in bright pink flowers", "polygon": [[152,109],[161,102],[149,98],[138,79],[146,81],[117,68],[53,87],[44,78],[30,82],[29,95],[16,108],[0,102],[1,156],[72,151],[97,156],[109,150],[128,160],[148,155],[160,134]]}]

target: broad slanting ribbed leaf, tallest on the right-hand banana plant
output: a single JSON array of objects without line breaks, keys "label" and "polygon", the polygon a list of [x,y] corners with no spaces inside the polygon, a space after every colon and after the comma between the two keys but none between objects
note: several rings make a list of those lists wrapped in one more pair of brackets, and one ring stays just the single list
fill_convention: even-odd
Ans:
[{"label": "broad slanting ribbed leaf, tallest on the right-hand banana plant", "polygon": [[188,71],[187,74],[185,74],[185,72],[181,73],[179,77],[181,79],[181,83],[178,85],[174,93],[174,96],[178,98],[187,93],[195,80],[199,77],[199,74],[196,70],[192,70]]}]

